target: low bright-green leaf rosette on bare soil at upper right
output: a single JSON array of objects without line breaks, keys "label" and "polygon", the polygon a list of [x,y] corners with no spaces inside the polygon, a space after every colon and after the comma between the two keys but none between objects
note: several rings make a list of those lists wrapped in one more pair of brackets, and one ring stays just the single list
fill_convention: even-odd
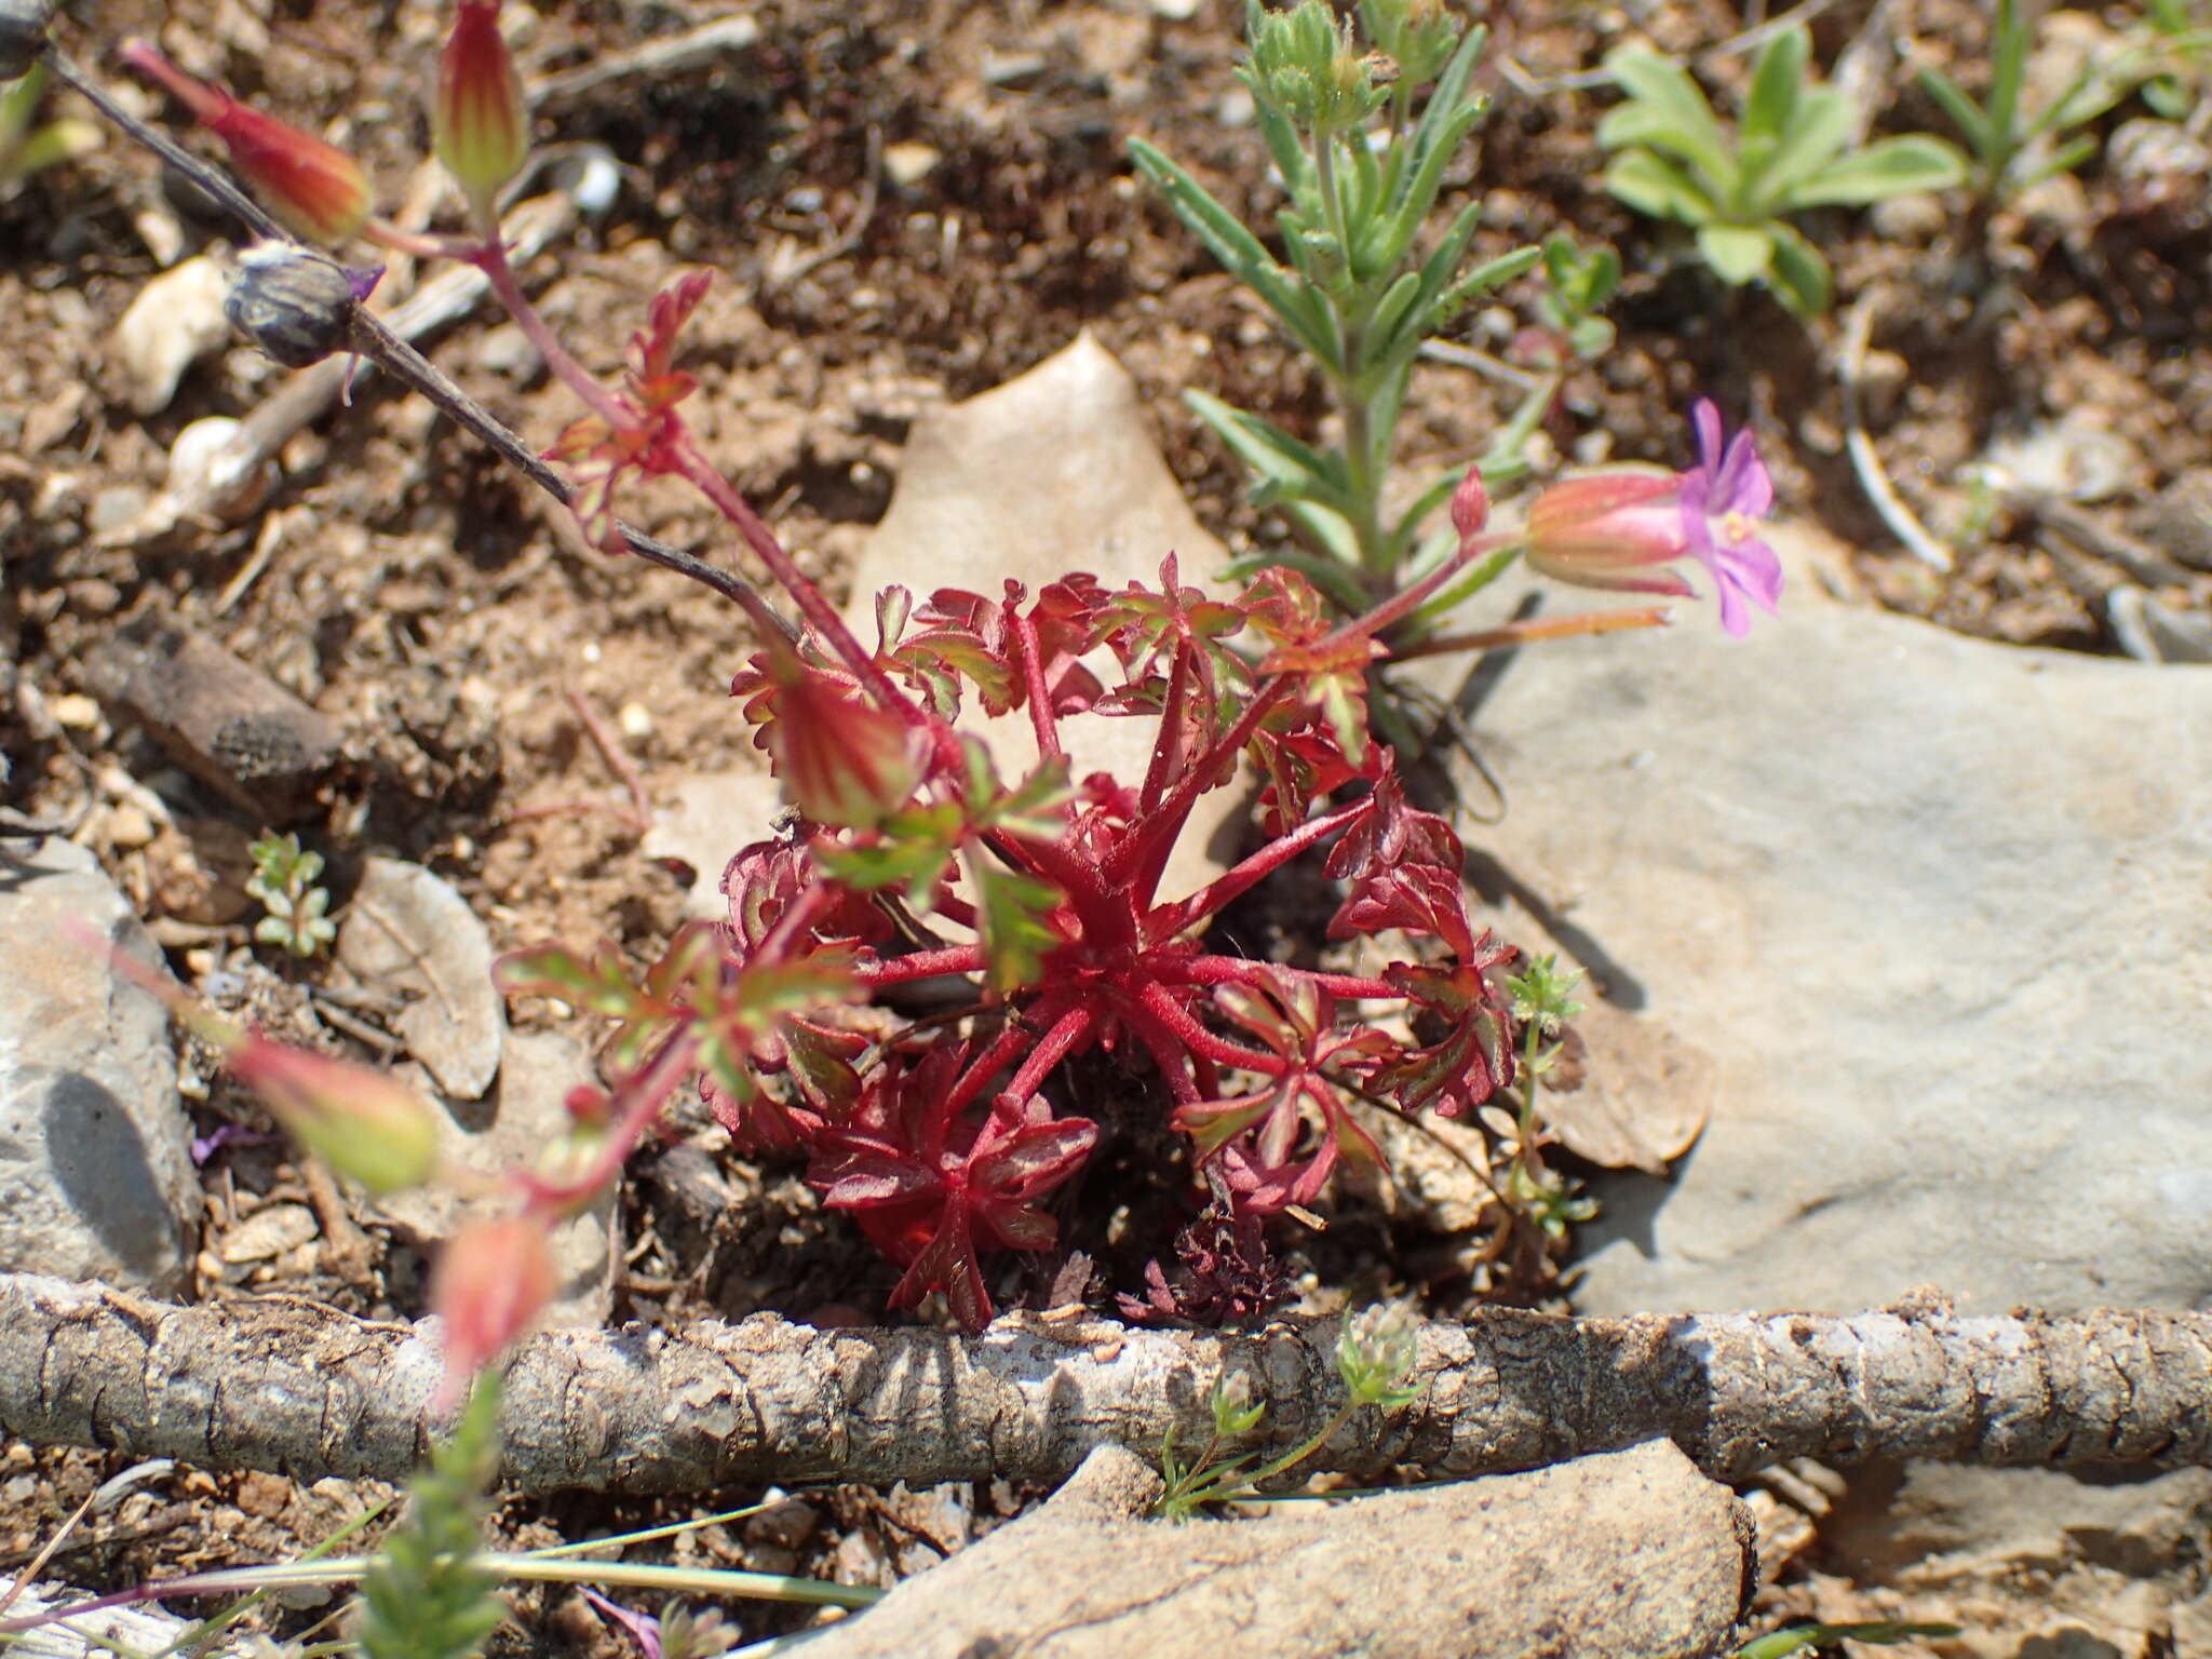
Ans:
[{"label": "low bright-green leaf rosette on bare soil at upper right", "polygon": [[1860,208],[1909,190],[1947,190],[1966,159],[1920,133],[1851,148],[1851,104],[1812,80],[1812,35],[1783,29],[1759,53],[1736,131],[1712,113],[1690,71],[1644,46],[1621,46],[1606,73],[1628,95],[1597,126],[1619,150],[1606,188],[1637,212],[1697,230],[1697,252],[1730,288],[1763,283],[1794,316],[1834,299],[1820,250],[1790,215]]}]

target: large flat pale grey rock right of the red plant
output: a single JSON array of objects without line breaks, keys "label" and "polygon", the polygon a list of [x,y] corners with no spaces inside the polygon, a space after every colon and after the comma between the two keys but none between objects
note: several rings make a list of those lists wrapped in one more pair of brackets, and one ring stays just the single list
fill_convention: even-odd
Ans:
[{"label": "large flat pale grey rock right of the red plant", "polygon": [[1590,971],[1590,1314],[2212,1305],[2212,672],[1792,591],[1522,653],[1478,710],[1498,925]]}]

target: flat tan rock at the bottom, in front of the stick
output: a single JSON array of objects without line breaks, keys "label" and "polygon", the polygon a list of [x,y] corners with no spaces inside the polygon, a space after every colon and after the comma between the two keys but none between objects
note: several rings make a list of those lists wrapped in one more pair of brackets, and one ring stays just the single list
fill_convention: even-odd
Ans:
[{"label": "flat tan rock at the bottom, in front of the stick", "polygon": [[1108,1447],[1044,1509],[810,1641],[821,1659],[1701,1659],[1732,1648],[1750,1515],[1657,1440],[1447,1486],[1130,1520]]}]

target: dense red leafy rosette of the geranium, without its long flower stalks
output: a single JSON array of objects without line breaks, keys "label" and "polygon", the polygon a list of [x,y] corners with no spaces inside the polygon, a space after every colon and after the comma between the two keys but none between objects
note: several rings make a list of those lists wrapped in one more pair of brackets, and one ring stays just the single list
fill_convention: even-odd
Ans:
[{"label": "dense red leafy rosette of the geranium, without its long flower stalks", "polygon": [[[1431,584],[1486,551],[1475,480],[1460,522]],[[1093,1051],[1159,1102],[1250,1239],[1241,1221],[1378,1159],[1354,1099],[1464,1113],[1513,1075],[1493,978],[1513,951],[1478,936],[1458,836],[1407,803],[1367,732],[1374,637],[1431,584],[1332,624],[1292,571],[1217,599],[1170,555],[1159,584],[1121,591],[1071,575],[916,606],[889,588],[874,646],[834,615],[772,635],[732,692],[794,814],[730,860],[730,920],[635,982],[560,949],[509,958],[502,982],[624,1020],[617,1099],[657,1110],[697,1073],[739,1146],[803,1150],[825,1203],[905,1270],[896,1305],[940,1290],[980,1327],[987,1252],[1057,1241],[1044,1199],[1102,1135],[1057,1079]],[[1024,776],[958,726],[971,708],[1026,717]],[[1152,721],[1144,776],[1075,776],[1062,726],[1079,717]],[[1245,761],[1265,845],[1164,896],[1199,799]],[[1387,936],[1402,960],[1321,973],[1210,949],[1208,922],[1298,856],[1345,887],[1329,936]],[[887,1037],[845,1022],[843,1004],[920,980],[964,982],[964,1009]],[[1429,1042],[1389,1035],[1416,1018]]]}]

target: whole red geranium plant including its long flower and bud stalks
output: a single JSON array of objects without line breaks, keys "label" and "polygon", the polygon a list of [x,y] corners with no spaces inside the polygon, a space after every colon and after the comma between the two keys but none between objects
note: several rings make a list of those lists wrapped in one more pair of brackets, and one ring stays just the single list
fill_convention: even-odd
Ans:
[{"label": "whole red geranium plant including its long flower and bud stalks", "polygon": [[[1732,630],[1745,597],[1772,608],[1778,566],[1752,535],[1772,491],[1747,438],[1723,449],[1710,405],[1697,414],[1697,471],[1557,484],[1513,535],[1486,533],[1489,502],[1469,471],[1451,500],[1449,557],[1349,622],[1294,568],[1261,571],[1221,597],[1186,584],[1170,553],[1157,584],[1119,591],[1075,573],[1035,595],[1011,582],[920,602],[889,588],[876,599],[876,639],[863,644],[686,429],[695,383],[677,367],[679,334],[708,279],[681,276],[653,303],[619,387],[582,369],[524,296],[495,208],[522,161],[526,113],[489,0],[460,0],[438,84],[440,155],[469,199],[460,237],[376,221],[367,179],[327,146],[241,113],[148,46],[124,55],[210,122],[305,230],[478,265],[586,407],[551,456],[575,469],[577,487],[553,487],[593,540],[648,551],[730,595],[761,641],[732,695],[792,814],[730,860],[728,920],[684,929],[641,973],[613,949],[535,949],[500,967],[513,993],[619,1022],[604,1055],[608,1088],[577,1088],[575,1133],[557,1159],[515,1177],[520,1243],[500,1261],[526,1261],[522,1245],[613,1181],[670,1095],[697,1079],[741,1148],[805,1155],[825,1203],[852,1212],[902,1267],[894,1303],[945,1292],[980,1327],[991,1316],[987,1254],[1051,1250],[1060,1228],[1048,1203],[1108,1133],[1077,1106],[1066,1071],[1104,1055],[1126,1095],[1119,1117],[1157,1113],[1188,1144],[1192,1190],[1203,1181],[1212,1192],[1181,1239],[1192,1283],[1170,1287],[1155,1263],[1144,1298],[1124,1305],[1243,1314],[1281,1283],[1265,1259],[1270,1217],[1312,1203],[1340,1164],[1376,1161],[1354,1102],[1455,1117],[1517,1071],[1542,1071],[1559,995],[1535,998],[1528,987],[1551,984],[1544,975],[1509,982],[1515,951],[1469,920],[1458,836],[1407,801],[1391,750],[1369,732],[1369,672],[1394,624],[1515,553],[1566,580],[1661,593],[1686,591],[1661,566],[1694,557],[1717,577]],[[250,204],[239,210],[265,223]],[[354,312],[356,272],[310,265],[299,254],[248,261],[243,281],[259,290],[232,314],[263,319],[257,338],[285,363],[341,341],[380,349]],[[301,343],[312,349],[294,352]],[[427,369],[407,374],[436,385]],[[551,480],[504,427],[438,396]],[[613,495],[630,473],[692,482],[801,626],[748,582],[619,526]],[[1416,650],[1659,619],[1513,624]],[[975,717],[1026,719],[1033,757],[1018,776],[973,734]],[[1144,774],[1077,776],[1064,732],[1075,719],[1150,721]],[[1201,796],[1248,770],[1263,783],[1263,845],[1197,891],[1164,894]],[[1223,907],[1303,856],[1323,858],[1343,891],[1329,938],[1378,940],[1374,971],[1287,967],[1208,938]],[[891,1011],[925,980],[962,987],[956,1004],[900,1022]],[[869,1002],[878,1006],[863,1018]],[[1524,1093],[1524,1148],[1528,1117]],[[449,1274],[447,1312],[456,1329],[478,1332],[456,1354],[460,1367],[487,1358],[529,1312],[480,1281]],[[476,1303],[480,1316],[465,1316]]]}]

